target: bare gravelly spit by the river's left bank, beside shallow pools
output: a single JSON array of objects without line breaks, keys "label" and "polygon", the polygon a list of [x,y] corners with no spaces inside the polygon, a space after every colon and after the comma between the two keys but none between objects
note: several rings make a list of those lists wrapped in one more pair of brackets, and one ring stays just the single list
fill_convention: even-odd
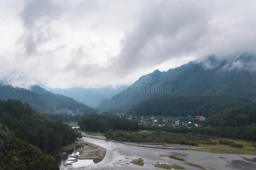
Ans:
[{"label": "bare gravelly spit by the river's left bank, beside shallow pools", "polygon": [[92,159],[94,163],[98,163],[102,159],[104,159],[106,154],[105,148],[81,139],[72,143],[71,145],[64,146],[62,149],[64,152],[75,149],[77,150],[77,152],[79,152],[79,154],[72,156],[73,159],[71,163],[65,165],[71,165],[72,163],[75,163],[78,160],[82,159]]}]

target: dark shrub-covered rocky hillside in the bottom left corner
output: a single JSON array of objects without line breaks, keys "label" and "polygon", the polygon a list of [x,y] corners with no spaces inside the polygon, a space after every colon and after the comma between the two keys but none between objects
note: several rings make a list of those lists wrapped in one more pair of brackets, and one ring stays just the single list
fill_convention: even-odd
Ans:
[{"label": "dark shrub-covered rocky hillside in the bottom left corner", "polygon": [[59,169],[56,160],[38,148],[13,137],[0,123],[0,169]]}]

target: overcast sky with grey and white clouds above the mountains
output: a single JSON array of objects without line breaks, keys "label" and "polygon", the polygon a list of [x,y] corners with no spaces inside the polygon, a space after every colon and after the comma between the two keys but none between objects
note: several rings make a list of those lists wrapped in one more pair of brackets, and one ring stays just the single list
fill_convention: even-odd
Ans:
[{"label": "overcast sky with grey and white clouds above the mountains", "polygon": [[130,84],[210,54],[256,50],[256,1],[0,1],[0,79]]}]

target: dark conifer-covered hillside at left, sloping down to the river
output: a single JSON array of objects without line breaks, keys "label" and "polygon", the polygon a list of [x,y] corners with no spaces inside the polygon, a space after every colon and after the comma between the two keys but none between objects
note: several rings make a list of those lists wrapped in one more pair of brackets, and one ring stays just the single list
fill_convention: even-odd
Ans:
[{"label": "dark conifer-covered hillside at left, sloping down to the river", "polygon": [[15,137],[51,155],[81,137],[76,129],[51,120],[19,100],[0,100],[0,122],[13,130]]}]

